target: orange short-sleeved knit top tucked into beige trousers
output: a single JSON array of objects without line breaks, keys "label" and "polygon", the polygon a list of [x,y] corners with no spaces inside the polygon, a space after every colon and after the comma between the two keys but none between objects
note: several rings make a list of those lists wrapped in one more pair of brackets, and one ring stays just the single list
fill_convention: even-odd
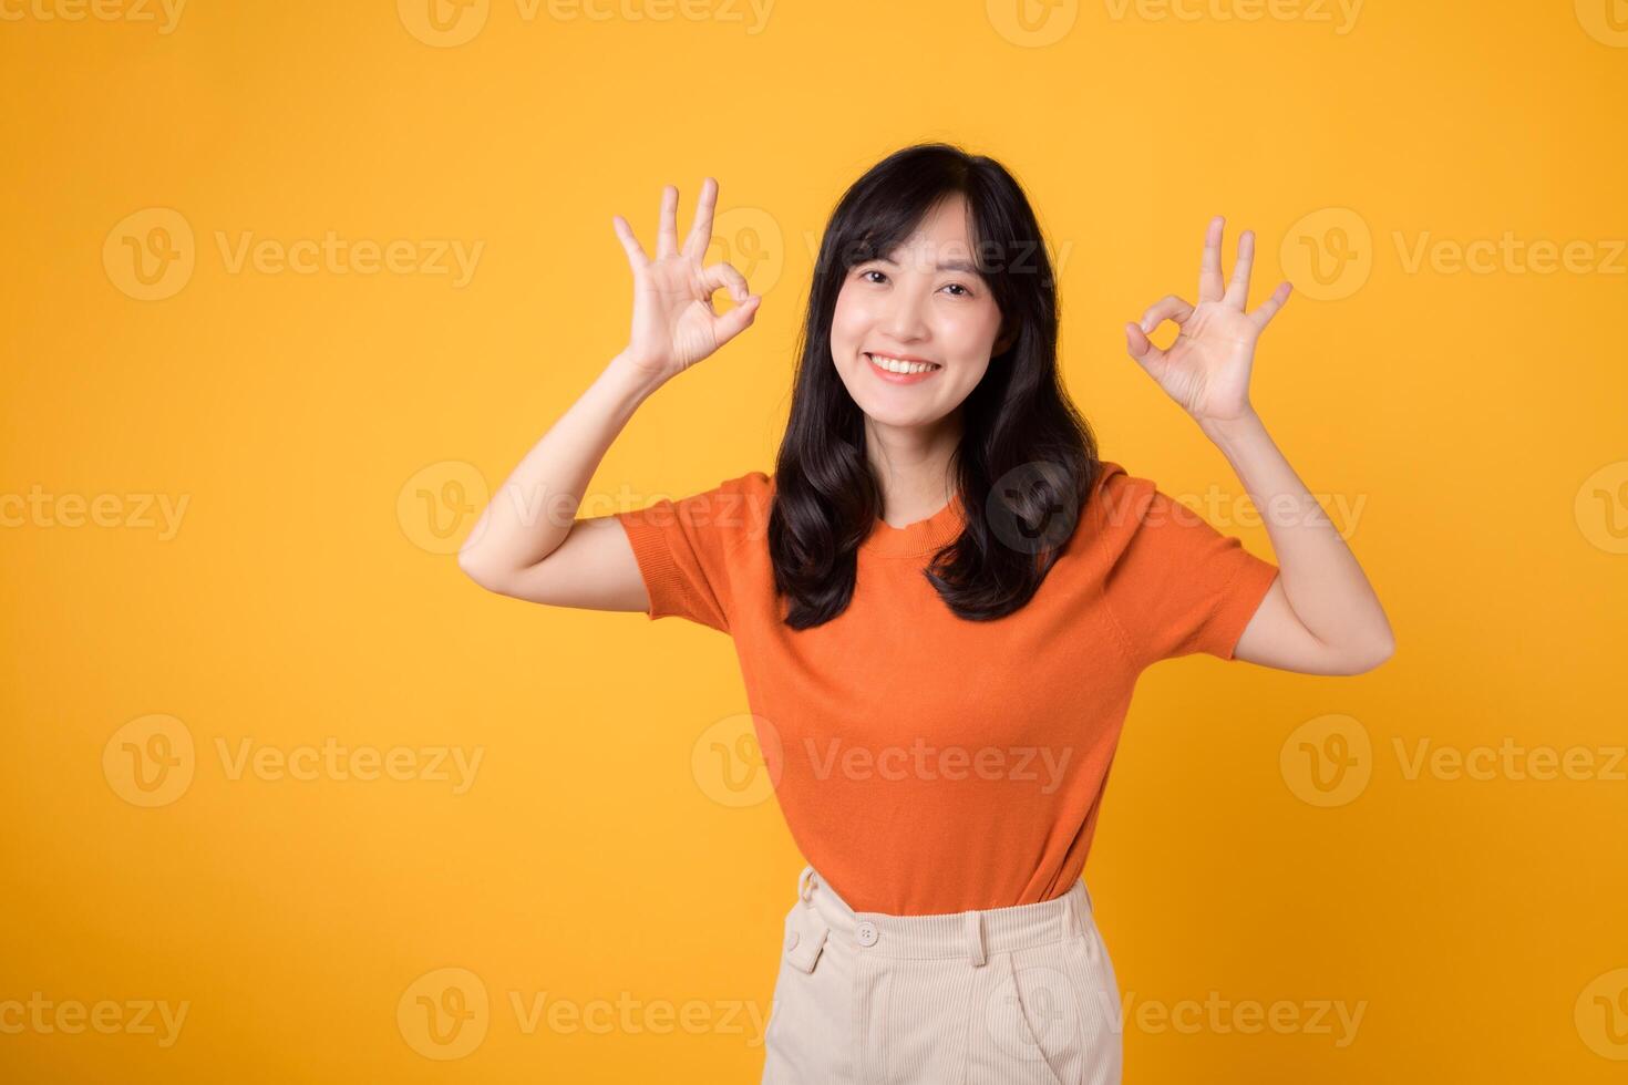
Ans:
[{"label": "orange short-sleeved knit top tucked into beige trousers", "polygon": [[877,519],[848,608],[791,630],[773,592],[773,480],[729,478],[617,512],[650,618],[734,639],[747,706],[803,857],[858,911],[1027,904],[1081,877],[1136,675],[1232,659],[1278,566],[1125,473],[1102,470],[1040,590],[957,618],[921,574],[961,534],[956,496]]}]

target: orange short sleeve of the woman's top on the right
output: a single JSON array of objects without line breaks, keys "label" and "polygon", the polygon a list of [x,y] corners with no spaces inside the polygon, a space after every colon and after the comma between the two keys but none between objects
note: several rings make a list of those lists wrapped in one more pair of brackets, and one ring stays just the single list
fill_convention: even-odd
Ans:
[{"label": "orange short sleeve of the woman's top on the right", "polygon": [[1115,481],[1114,529],[1125,537],[1104,590],[1136,664],[1193,652],[1232,659],[1278,566],[1153,481],[1128,475]]}]

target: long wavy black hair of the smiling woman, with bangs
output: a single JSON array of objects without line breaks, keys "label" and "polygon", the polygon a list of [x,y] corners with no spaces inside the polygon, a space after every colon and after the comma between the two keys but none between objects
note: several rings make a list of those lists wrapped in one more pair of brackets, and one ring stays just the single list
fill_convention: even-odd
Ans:
[{"label": "long wavy black hair of the smiling woman, with bangs", "polygon": [[882,512],[864,413],[830,353],[848,270],[894,252],[943,198],[970,208],[974,262],[1001,311],[1001,353],[957,408],[965,527],[923,576],[956,615],[1001,618],[1039,590],[1084,508],[1099,462],[1057,369],[1057,280],[1034,210],[991,158],[951,143],[894,151],[843,194],[821,242],[799,335],[791,418],[775,462],[768,551],[785,623],[824,625],[853,599],[858,547]]}]

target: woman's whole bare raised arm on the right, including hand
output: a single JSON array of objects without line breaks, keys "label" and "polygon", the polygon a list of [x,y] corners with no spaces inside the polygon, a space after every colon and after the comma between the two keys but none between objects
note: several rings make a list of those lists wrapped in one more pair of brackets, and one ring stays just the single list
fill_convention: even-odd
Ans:
[{"label": "woman's whole bare raised arm on the right, including hand", "polygon": [[[1175,294],[1127,324],[1130,356],[1182,405],[1232,464],[1263,512],[1278,581],[1244,628],[1234,656],[1306,673],[1350,675],[1390,657],[1395,638],[1372,586],[1322,506],[1289,467],[1249,402],[1255,340],[1289,296],[1281,283],[1245,312],[1255,234],[1244,231],[1231,283],[1221,278],[1223,220],[1210,220],[1198,304]],[[1167,350],[1148,340],[1164,320],[1180,332]]]}]

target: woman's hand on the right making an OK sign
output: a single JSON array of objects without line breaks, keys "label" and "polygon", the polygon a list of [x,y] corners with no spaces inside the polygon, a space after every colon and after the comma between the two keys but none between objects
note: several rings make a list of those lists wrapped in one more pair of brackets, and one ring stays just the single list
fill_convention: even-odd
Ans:
[{"label": "woman's hand on the right making an OK sign", "polygon": [[[1244,312],[1255,234],[1249,229],[1239,234],[1232,281],[1223,288],[1223,223],[1219,215],[1210,220],[1198,272],[1198,304],[1190,306],[1169,294],[1148,306],[1140,325],[1125,325],[1130,356],[1198,423],[1232,421],[1254,410],[1249,368],[1255,359],[1255,340],[1289,296],[1289,285],[1280,283],[1271,298],[1254,312]],[[1148,340],[1148,332],[1164,320],[1174,320],[1180,332],[1174,343],[1159,350]]]}]

